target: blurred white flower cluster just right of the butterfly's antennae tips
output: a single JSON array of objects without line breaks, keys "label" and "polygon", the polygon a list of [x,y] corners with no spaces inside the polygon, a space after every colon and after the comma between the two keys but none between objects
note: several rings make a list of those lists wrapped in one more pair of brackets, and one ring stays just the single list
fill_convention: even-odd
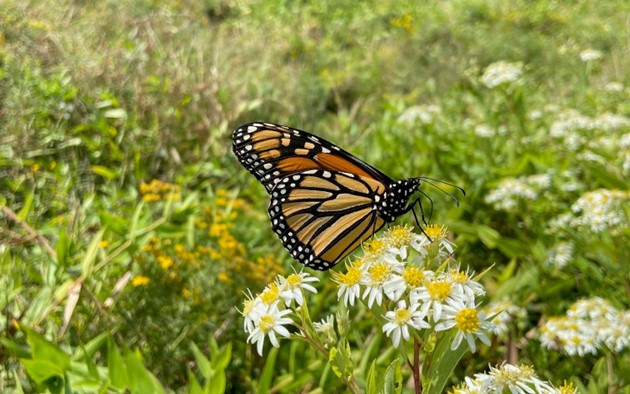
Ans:
[{"label": "blurred white flower cluster just right of the butterfly's antennae tips", "polygon": [[535,200],[541,191],[550,186],[551,176],[549,174],[505,178],[486,195],[485,200],[497,210],[510,211],[518,206],[519,200]]}]

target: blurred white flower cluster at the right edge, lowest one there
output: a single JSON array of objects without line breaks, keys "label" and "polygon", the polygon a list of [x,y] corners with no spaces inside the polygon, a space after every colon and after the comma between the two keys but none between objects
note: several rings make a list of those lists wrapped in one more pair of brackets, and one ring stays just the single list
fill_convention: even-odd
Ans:
[{"label": "blurred white flower cluster at the right edge, lowest one there", "polygon": [[604,346],[619,353],[630,346],[630,310],[618,311],[599,297],[579,300],[566,316],[549,319],[540,333],[543,346],[570,356],[597,354]]}]

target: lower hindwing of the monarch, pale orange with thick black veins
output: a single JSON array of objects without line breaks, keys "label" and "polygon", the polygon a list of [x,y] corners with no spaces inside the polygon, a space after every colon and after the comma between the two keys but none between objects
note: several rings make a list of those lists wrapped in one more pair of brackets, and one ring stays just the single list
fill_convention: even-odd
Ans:
[{"label": "lower hindwing of the monarch, pale orange with thick black veins", "polygon": [[375,199],[384,189],[374,179],[347,172],[294,173],[271,191],[269,218],[293,258],[325,271],[383,227]]}]

